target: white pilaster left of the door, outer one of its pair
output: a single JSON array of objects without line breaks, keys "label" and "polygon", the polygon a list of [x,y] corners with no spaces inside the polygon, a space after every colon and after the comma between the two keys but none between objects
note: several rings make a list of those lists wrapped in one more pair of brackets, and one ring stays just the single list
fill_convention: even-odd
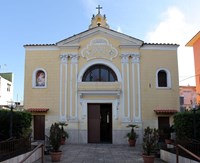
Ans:
[{"label": "white pilaster left of the door, outer one of its pair", "polygon": [[[67,64],[68,64],[68,55],[62,54],[60,55],[60,121],[67,120]],[[63,71],[65,75],[63,76]],[[65,78],[65,82],[63,83],[63,77]],[[63,89],[64,88],[64,89]],[[64,106],[63,106],[63,90],[64,90]],[[64,114],[63,114],[64,109]]]}]

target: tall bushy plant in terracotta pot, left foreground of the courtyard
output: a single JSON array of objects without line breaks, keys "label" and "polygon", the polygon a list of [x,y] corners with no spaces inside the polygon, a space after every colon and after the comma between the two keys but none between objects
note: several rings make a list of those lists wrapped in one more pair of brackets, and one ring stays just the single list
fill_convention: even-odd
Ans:
[{"label": "tall bushy plant in terracotta pot, left foreground of the courtyard", "polygon": [[51,154],[51,160],[52,162],[60,161],[62,151],[60,151],[60,145],[61,145],[61,137],[62,137],[62,131],[59,127],[59,124],[54,123],[51,125],[50,128],[50,136],[49,136],[49,143],[52,146]]}]

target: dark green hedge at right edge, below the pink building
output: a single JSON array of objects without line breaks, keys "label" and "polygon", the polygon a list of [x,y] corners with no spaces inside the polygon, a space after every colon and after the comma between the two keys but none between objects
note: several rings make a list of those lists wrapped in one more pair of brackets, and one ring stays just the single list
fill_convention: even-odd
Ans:
[{"label": "dark green hedge at right edge, below the pink building", "polygon": [[[193,111],[180,112],[174,115],[174,129],[177,139],[194,138]],[[200,140],[200,111],[195,113],[196,139]]]}]

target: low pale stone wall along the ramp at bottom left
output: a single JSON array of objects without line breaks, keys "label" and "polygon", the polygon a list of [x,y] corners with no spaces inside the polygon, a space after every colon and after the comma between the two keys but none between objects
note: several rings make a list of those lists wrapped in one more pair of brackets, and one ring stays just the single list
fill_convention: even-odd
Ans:
[{"label": "low pale stone wall along the ramp at bottom left", "polygon": [[[28,160],[26,161],[26,163],[32,163],[35,162],[37,160],[39,160],[42,157],[42,152],[41,152],[41,148],[37,149],[31,156],[30,158],[28,158]],[[30,151],[31,152],[31,151]],[[13,157],[11,159],[5,160],[1,163],[19,163],[20,161],[22,161],[30,152],[24,153],[22,155]]]}]

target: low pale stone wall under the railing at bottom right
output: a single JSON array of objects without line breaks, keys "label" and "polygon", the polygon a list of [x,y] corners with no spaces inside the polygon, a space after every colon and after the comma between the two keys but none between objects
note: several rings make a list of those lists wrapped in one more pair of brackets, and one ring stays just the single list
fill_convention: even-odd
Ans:
[{"label": "low pale stone wall under the railing at bottom right", "polygon": [[[174,163],[176,162],[176,154],[165,151],[165,150],[160,150],[160,158],[168,163]],[[197,161],[179,156],[179,162],[181,163],[198,163]]]}]

